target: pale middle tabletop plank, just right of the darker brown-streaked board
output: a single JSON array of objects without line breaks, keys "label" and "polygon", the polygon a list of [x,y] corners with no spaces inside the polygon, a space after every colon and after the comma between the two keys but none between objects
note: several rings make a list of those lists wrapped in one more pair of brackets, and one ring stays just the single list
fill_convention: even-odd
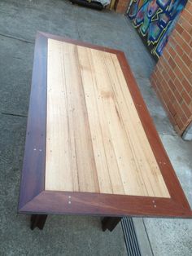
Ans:
[{"label": "pale middle tabletop plank, just right of the darker brown-streaked board", "polygon": [[[85,90],[100,192],[124,194],[115,153],[111,145],[107,118],[103,113],[103,99],[99,88],[101,83],[98,82],[97,73],[94,70],[91,51],[81,46],[77,46],[77,49],[81,64],[81,75]],[[105,81],[102,84],[105,85]]]}]

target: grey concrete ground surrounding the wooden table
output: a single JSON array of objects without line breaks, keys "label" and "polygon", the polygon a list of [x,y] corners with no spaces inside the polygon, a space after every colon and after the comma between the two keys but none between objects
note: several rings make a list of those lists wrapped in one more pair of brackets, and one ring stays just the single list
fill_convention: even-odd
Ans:
[{"label": "grey concrete ground surrounding the wooden table", "polygon": [[[0,255],[126,255],[120,225],[102,232],[99,218],[50,216],[43,232],[17,214],[20,170],[37,30],[125,52],[172,165],[192,205],[192,143],[172,130],[149,82],[155,62],[123,15],[67,0],[0,2]],[[11,114],[11,115],[10,115]],[[13,116],[14,114],[15,116]],[[143,255],[192,254],[192,220],[134,218]]]}]

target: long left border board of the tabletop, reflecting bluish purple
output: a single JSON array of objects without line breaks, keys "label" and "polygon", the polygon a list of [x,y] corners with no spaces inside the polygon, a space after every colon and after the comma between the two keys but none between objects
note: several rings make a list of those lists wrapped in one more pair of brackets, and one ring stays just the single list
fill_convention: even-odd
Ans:
[{"label": "long left border board of the tabletop, reflecting bluish purple", "polygon": [[44,190],[47,38],[37,34],[19,208]]}]

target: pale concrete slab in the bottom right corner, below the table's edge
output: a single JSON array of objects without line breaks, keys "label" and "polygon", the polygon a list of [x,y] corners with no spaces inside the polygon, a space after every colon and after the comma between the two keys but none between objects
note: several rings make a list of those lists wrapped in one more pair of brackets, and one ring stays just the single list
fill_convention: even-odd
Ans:
[{"label": "pale concrete slab in the bottom right corner, below the table's edge", "polygon": [[191,256],[191,220],[145,218],[144,221],[155,256]]}]

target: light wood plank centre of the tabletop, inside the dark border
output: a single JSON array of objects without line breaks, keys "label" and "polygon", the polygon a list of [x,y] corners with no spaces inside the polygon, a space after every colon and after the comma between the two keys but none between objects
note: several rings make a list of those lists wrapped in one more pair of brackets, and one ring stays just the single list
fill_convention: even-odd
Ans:
[{"label": "light wood plank centre of the tabletop, inside the dark border", "polygon": [[48,39],[46,190],[170,197],[115,54]]}]

